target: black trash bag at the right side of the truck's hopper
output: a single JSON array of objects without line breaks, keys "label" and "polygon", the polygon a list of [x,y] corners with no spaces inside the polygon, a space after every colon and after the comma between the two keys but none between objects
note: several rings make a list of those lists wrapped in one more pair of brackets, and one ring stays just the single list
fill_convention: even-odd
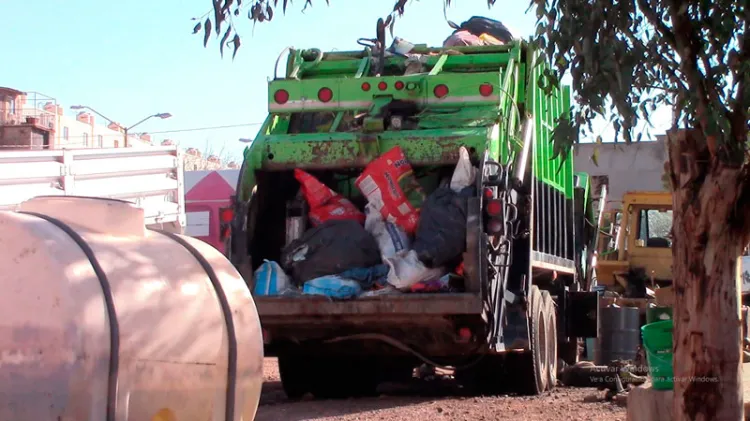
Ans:
[{"label": "black trash bag at the right side of the truck's hopper", "polygon": [[412,248],[425,266],[457,263],[466,251],[466,214],[474,190],[471,186],[456,193],[439,187],[422,204]]}]

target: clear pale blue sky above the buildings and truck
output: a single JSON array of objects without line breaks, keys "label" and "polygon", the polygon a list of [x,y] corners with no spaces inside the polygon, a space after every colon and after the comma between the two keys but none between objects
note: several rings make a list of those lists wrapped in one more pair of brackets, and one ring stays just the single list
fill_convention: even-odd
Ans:
[{"label": "clear pale blue sky above the buildings and truck", "polygon": [[[150,120],[134,131],[183,147],[226,148],[239,157],[244,145],[238,139],[254,137],[265,118],[267,78],[285,47],[359,49],[357,38],[373,38],[377,18],[393,5],[392,0],[313,3],[302,13],[304,0],[297,0],[286,16],[279,10],[272,22],[254,29],[246,16],[235,18],[243,45],[232,61],[231,51],[219,56],[215,37],[204,49],[202,33],[192,35],[191,18],[209,10],[209,0],[3,1],[0,86],[41,92],[66,108],[88,105],[123,125],[169,112],[172,118]],[[527,0],[498,1],[492,9],[485,0],[453,3],[447,14],[456,23],[482,15],[525,37],[534,32],[536,18],[533,10],[525,14]],[[450,33],[442,0],[412,1],[395,31],[432,45]],[[246,126],[181,131],[240,124]],[[175,132],[158,133],[163,131]]]}]

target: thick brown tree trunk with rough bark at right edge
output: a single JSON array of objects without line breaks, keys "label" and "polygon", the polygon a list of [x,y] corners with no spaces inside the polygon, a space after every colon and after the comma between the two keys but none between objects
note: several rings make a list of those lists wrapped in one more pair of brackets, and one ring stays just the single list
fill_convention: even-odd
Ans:
[{"label": "thick brown tree trunk with rough bark at right edge", "polygon": [[668,134],[673,186],[675,420],[743,419],[737,260],[747,238],[740,168],[699,131]]}]

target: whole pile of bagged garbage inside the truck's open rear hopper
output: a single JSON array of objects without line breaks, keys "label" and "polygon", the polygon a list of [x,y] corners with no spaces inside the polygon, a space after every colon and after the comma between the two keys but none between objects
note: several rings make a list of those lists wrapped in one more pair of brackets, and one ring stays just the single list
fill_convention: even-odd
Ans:
[{"label": "whole pile of bagged garbage inside the truck's open rear hopper", "polygon": [[450,181],[427,196],[396,146],[354,182],[367,199],[360,210],[296,169],[304,210],[287,218],[281,261],[266,260],[256,270],[255,295],[350,299],[460,290],[476,172],[461,147]]}]

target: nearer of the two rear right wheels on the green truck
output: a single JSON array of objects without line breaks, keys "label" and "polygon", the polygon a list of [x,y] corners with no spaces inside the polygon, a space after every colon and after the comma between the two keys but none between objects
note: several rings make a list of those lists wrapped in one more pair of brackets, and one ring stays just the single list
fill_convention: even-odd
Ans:
[{"label": "nearer of the two rear right wheels on the green truck", "polygon": [[517,371],[511,378],[519,379],[519,392],[539,395],[547,389],[549,364],[547,360],[547,317],[542,292],[536,285],[529,293],[529,348],[521,354],[511,353],[509,368]]}]

